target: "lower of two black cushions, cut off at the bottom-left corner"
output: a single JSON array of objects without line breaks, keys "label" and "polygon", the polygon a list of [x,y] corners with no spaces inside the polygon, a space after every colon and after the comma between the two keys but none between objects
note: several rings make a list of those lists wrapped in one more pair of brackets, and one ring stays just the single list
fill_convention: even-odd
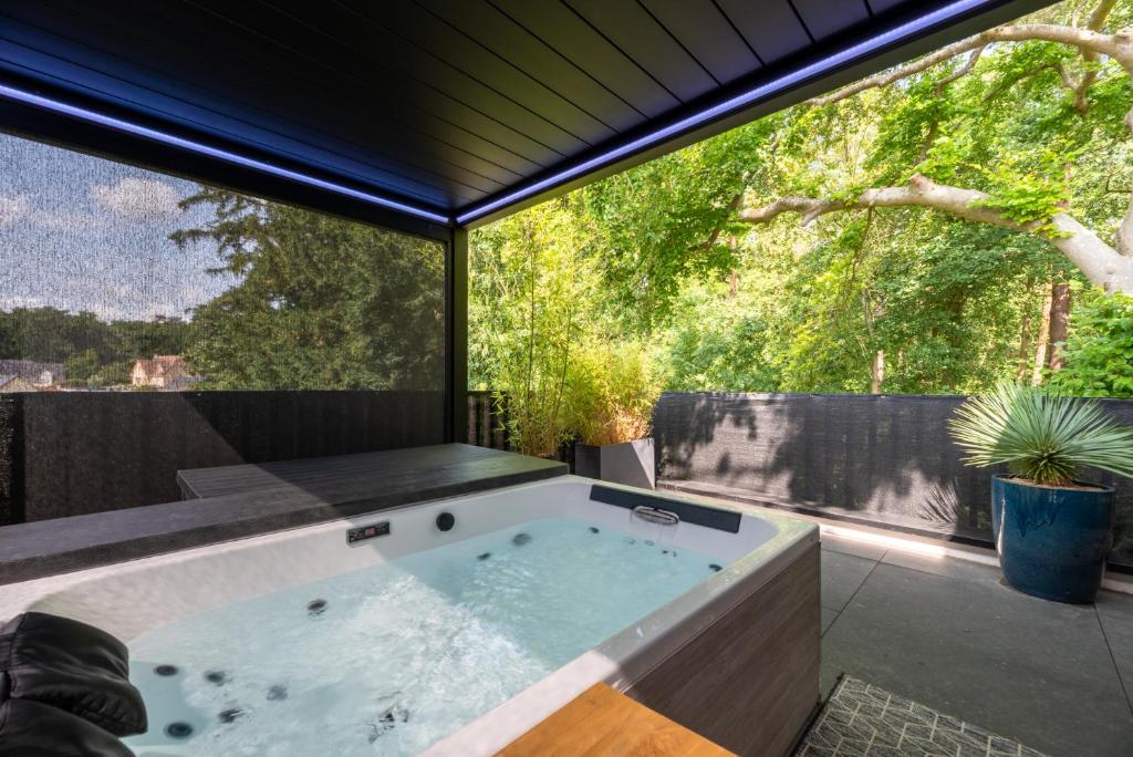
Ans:
[{"label": "lower of two black cushions, cut off at the bottom-left corner", "polygon": [[90,721],[29,699],[0,704],[0,755],[134,757],[117,737]]}]

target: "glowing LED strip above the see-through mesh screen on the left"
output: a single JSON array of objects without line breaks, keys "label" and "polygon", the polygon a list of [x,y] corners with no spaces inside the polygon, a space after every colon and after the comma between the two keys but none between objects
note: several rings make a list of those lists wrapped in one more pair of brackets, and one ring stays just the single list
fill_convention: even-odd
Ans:
[{"label": "glowing LED strip above the see-through mesh screen on the left", "polygon": [[290,169],[283,168],[281,165],[275,165],[273,163],[266,163],[264,161],[256,160],[254,158],[246,158],[245,155],[239,155],[237,153],[229,152],[227,150],[220,150],[218,147],[211,147],[210,145],[202,144],[199,142],[194,142],[191,139],[185,139],[182,137],[174,136],[172,134],[165,134],[164,131],[159,131],[157,129],[151,129],[146,126],[140,126],[138,124],[130,124],[129,121],[123,121],[111,116],[104,116],[103,113],[97,113],[85,108],[78,108],[76,105],[70,105],[65,102],[59,102],[57,100],[51,100],[50,97],[44,97],[31,92],[24,92],[23,90],[17,90],[3,84],[0,84],[0,96],[7,97],[9,100],[15,100],[17,102],[25,103],[27,105],[34,105],[42,110],[48,110],[53,113],[62,113],[63,116],[70,116],[91,124],[97,124],[99,126],[105,126],[118,131],[125,131],[127,134],[134,134],[139,137],[145,137],[146,139],[153,139],[154,142],[160,142],[162,144],[170,145],[172,147],[178,147],[188,152],[197,153],[199,155],[207,155],[208,158],[215,158],[228,163],[235,163],[236,165],[244,165],[245,168],[250,168],[253,170],[259,171],[262,173],[270,173],[272,176],[278,176],[283,179],[289,179],[291,181],[297,181],[299,184],[305,184],[312,187],[317,187],[318,189],[326,189],[327,192],[333,192],[338,195],[343,195],[346,197],[352,197],[353,199],[360,199],[365,203],[370,203],[372,205],[378,205],[392,211],[398,211],[399,213],[407,213],[409,215],[415,215],[427,221],[436,221],[437,223],[450,223],[451,219],[448,215],[441,215],[440,213],[434,213],[421,207],[415,207],[412,205],[407,205],[404,203],[399,203],[394,199],[389,199],[380,195],[373,195],[367,192],[360,192],[351,187],[335,184],[333,181],[326,181],[314,176],[308,176],[306,173],[300,173],[299,171],[292,171]]}]

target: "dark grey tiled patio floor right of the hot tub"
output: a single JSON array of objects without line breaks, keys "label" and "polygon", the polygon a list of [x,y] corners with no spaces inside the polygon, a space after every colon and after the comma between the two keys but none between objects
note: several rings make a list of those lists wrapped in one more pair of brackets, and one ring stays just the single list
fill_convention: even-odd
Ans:
[{"label": "dark grey tiled patio floor right of the hot tub", "polygon": [[943,547],[838,530],[823,535],[824,697],[847,674],[1051,757],[1133,755],[1133,595],[1046,602]]}]

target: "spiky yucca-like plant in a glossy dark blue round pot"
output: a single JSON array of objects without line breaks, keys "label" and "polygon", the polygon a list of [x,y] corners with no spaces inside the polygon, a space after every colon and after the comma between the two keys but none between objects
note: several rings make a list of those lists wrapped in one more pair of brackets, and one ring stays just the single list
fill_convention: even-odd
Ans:
[{"label": "spiky yucca-like plant in a glossy dark blue round pot", "polygon": [[1057,602],[1093,602],[1113,542],[1114,490],[1084,467],[1133,477],[1133,429],[1091,400],[1000,384],[951,422],[969,465],[1006,465],[991,479],[991,527],[1007,582]]}]

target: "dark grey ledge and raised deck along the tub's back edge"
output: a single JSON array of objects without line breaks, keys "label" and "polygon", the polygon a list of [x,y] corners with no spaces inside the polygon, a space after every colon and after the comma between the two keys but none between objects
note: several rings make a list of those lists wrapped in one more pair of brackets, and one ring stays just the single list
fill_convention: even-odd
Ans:
[{"label": "dark grey ledge and raised deck along the tub's back edge", "polygon": [[[312,476],[317,462],[324,475]],[[237,469],[246,469],[247,476]],[[526,484],[564,475],[566,465],[438,444],[223,470],[230,479],[254,478],[257,485],[186,502],[0,528],[0,584]],[[300,474],[292,475],[295,470]]]}]

